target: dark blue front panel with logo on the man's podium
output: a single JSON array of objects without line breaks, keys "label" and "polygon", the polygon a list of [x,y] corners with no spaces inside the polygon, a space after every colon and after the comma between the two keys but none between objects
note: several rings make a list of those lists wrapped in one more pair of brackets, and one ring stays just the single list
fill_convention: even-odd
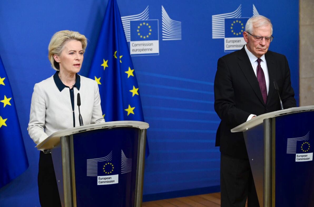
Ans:
[{"label": "dark blue front panel with logo on the man's podium", "polygon": [[314,206],[314,112],[276,117],[275,206]]}]

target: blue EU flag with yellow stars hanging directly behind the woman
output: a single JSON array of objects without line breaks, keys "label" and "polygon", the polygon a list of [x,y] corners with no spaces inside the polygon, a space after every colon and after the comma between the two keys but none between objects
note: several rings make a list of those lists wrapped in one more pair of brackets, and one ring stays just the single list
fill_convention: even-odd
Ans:
[{"label": "blue EU flag with yellow stars hanging directly behind the woman", "polygon": [[[107,122],[144,121],[138,83],[116,0],[109,0],[89,78],[99,84]],[[145,157],[149,155],[146,139]]]}]

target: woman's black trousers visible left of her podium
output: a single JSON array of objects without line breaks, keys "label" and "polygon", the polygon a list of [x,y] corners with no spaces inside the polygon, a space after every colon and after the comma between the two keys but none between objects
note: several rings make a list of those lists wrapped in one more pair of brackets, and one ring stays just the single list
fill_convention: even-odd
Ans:
[{"label": "woman's black trousers visible left of her podium", "polygon": [[38,193],[41,207],[61,207],[51,153],[40,151],[38,164]]}]

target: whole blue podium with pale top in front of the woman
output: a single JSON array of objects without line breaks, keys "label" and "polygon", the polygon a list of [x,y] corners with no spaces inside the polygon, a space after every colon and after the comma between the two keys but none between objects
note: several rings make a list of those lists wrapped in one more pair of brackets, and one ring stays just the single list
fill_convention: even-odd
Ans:
[{"label": "whole blue podium with pale top in front of the woman", "polygon": [[62,206],[142,206],[147,128],[138,121],[90,124],[38,144],[51,152]]}]

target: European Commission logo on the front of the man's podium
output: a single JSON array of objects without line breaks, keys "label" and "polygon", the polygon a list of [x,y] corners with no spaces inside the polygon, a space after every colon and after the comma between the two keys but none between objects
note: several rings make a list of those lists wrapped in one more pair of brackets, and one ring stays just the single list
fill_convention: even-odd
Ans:
[{"label": "European Commission logo on the front of the man's podium", "polygon": [[296,162],[312,161],[313,147],[310,132],[303,137],[288,138],[287,154],[295,154]]}]

